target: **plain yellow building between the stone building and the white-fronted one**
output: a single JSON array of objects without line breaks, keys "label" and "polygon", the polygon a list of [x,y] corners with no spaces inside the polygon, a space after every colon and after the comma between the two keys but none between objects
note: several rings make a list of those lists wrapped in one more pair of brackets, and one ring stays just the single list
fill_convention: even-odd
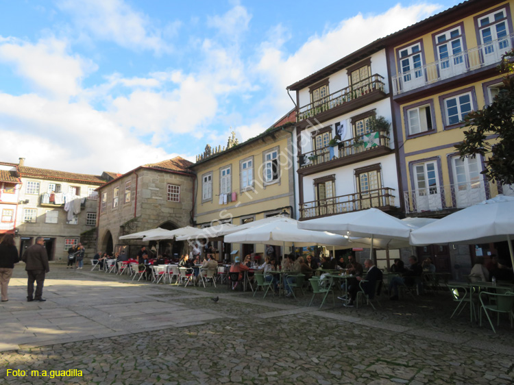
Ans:
[{"label": "plain yellow building between the stone building and the white-fronted one", "polygon": [[[290,112],[264,133],[239,144],[232,138],[227,148],[211,149],[190,166],[197,175],[195,224],[210,227],[219,223],[241,225],[268,216],[294,216],[293,177],[294,112]],[[289,122],[289,123],[284,123]],[[222,244],[220,259],[263,253],[265,245]],[[280,247],[275,247],[281,255]]]}]

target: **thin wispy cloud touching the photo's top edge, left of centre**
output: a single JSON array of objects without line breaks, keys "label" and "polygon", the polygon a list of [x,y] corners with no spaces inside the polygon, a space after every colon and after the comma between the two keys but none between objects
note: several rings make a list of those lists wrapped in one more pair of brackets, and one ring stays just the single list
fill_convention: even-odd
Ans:
[{"label": "thin wispy cloud touching the photo's top edge, left of centre", "polygon": [[175,36],[181,25],[174,22],[164,29],[156,28],[148,16],[123,0],[62,0],[58,5],[88,34],[138,51],[170,52],[171,45],[162,36]]}]

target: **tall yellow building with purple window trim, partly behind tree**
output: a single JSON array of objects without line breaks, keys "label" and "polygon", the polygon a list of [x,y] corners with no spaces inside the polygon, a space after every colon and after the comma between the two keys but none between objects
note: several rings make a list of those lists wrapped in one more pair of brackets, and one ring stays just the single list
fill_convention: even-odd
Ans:
[{"label": "tall yellow building with purple window trim, partly behind tree", "polygon": [[[480,173],[485,159],[461,159],[454,148],[464,138],[464,117],[498,93],[496,66],[513,47],[513,4],[466,1],[391,37],[393,114],[408,216],[441,217],[499,192],[513,195],[511,186],[487,182]],[[420,253],[435,257],[440,271],[470,263],[469,255],[450,258],[448,247]]]}]

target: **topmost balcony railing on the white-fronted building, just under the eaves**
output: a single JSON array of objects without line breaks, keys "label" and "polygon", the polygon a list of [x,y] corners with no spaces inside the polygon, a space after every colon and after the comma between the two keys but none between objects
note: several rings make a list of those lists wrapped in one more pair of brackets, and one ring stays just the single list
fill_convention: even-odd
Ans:
[{"label": "topmost balcony railing on the white-fronted building, just under the eaves", "polygon": [[380,79],[384,79],[384,77],[378,74],[371,75],[370,77],[361,80],[357,86],[345,87],[313,103],[308,103],[307,105],[299,108],[296,121],[299,122],[313,118],[320,112],[328,111],[338,105],[343,105],[376,90],[384,92],[384,82]]}]

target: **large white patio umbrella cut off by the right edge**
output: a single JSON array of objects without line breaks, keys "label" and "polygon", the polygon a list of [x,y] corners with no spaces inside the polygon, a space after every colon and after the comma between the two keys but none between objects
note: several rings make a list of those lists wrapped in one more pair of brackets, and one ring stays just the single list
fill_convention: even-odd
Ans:
[{"label": "large white patio umbrella cut off by the right edge", "polygon": [[413,231],[411,245],[473,245],[506,240],[514,266],[511,238],[514,238],[514,197],[498,195]]}]

